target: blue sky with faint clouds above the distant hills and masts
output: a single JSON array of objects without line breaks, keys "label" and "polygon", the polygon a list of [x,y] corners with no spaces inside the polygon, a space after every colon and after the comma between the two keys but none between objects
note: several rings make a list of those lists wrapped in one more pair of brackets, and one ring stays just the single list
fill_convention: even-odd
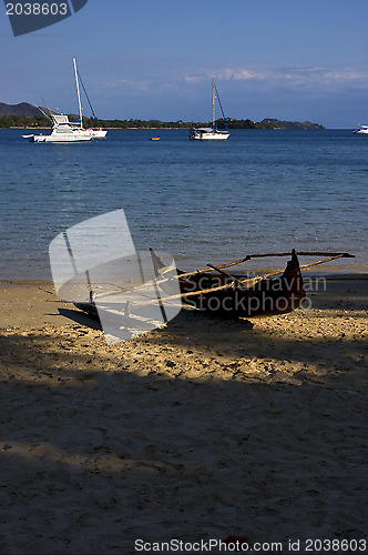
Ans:
[{"label": "blue sky with faint clouds above the distant hills and masts", "polygon": [[13,37],[1,3],[0,102],[75,113],[75,57],[101,119],[209,121],[214,77],[227,118],[356,128],[367,22],[368,0],[89,0]]}]

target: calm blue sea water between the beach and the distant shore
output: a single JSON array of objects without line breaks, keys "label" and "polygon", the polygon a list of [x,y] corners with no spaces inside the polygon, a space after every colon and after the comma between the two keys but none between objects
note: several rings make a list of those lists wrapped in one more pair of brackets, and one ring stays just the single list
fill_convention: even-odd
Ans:
[{"label": "calm blue sea water between the beach and the distant shore", "polygon": [[348,251],[356,259],[334,271],[367,271],[367,137],[237,130],[200,143],[186,130],[112,130],[58,145],[21,134],[0,130],[1,279],[50,279],[50,241],[116,209],[136,248],[184,269],[296,248]]}]

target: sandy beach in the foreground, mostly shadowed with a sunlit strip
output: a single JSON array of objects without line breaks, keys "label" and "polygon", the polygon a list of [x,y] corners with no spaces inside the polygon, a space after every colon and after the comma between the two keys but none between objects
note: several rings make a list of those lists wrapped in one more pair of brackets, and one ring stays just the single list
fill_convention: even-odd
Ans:
[{"label": "sandy beach in the foreground, mostly shadowed with a sunlit strip", "polygon": [[52,283],[2,283],[0,552],[366,538],[367,284],[108,345]]}]

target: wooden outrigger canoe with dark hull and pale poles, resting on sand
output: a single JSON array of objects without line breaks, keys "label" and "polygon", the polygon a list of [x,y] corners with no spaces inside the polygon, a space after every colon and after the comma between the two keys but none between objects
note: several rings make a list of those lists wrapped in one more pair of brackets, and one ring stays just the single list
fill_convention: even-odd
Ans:
[{"label": "wooden outrigger canoe with dark hull and pale poles, resting on sand", "polygon": [[[182,302],[193,309],[198,309],[221,317],[252,317],[256,315],[288,313],[300,306],[303,300],[306,297],[301,269],[341,258],[354,258],[354,255],[348,253],[297,253],[293,250],[292,253],[251,254],[227,264],[217,266],[207,264],[207,268],[203,270],[183,272],[173,266],[166,266],[152,249],[150,251],[156,276],[153,283],[157,290],[157,299],[145,303],[127,302],[122,306],[121,311],[113,310],[116,316],[120,315],[122,317],[122,324],[125,322],[126,324],[137,323],[141,325],[141,321],[136,322],[134,320],[134,311],[141,314],[139,317],[142,319],[145,306],[159,303],[160,306],[164,307],[164,304],[167,302]],[[298,255],[323,255],[327,258],[300,265]],[[233,266],[252,259],[265,256],[290,256],[290,259],[284,271],[275,271],[265,275],[249,278],[248,274],[234,275],[228,273],[228,269]],[[177,282],[180,293],[177,293]],[[175,284],[174,287],[173,284]],[[141,287],[144,286],[142,285]],[[137,290],[140,290],[140,286],[132,289],[132,292]],[[129,291],[125,290],[124,293]],[[173,294],[174,291],[175,293]],[[119,304],[120,293],[121,291],[116,291],[115,293],[116,304]],[[109,296],[111,296],[111,293],[109,293]],[[90,302],[75,302],[74,305],[91,315],[98,315],[98,301],[99,311],[101,309],[104,310],[101,299],[103,299],[103,294],[95,296],[91,290]]]}]

